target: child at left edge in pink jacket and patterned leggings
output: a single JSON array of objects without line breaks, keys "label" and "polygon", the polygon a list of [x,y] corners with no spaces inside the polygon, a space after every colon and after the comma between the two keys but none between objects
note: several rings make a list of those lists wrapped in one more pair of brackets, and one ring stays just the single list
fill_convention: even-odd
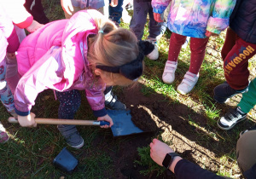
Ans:
[{"label": "child at left edge in pink jacket and patterned leggings", "polygon": [[[8,78],[6,77],[8,71],[6,63],[14,56],[20,45],[15,26],[26,28],[29,32],[35,31],[40,26],[37,21],[33,20],[32,15],[26,12],[21,2],[20,0],[0,2],[0,100],[13,116],[16,116],[14,96],[5,79]],[[3,124],[0,123],[0,143],[8,140],[9,136]]]}]

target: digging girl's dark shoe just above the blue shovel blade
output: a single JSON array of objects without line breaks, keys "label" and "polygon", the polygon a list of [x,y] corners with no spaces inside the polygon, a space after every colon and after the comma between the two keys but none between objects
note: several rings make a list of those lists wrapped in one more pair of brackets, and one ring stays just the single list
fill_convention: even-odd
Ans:
[{"label": "digging girl's dark shoe just above the blue shovel blade", "polygon": [[116,95],[113,95],[112,90],[105,95],[105,107],[112,110],[126,109],[125,104],[119,101]]}]

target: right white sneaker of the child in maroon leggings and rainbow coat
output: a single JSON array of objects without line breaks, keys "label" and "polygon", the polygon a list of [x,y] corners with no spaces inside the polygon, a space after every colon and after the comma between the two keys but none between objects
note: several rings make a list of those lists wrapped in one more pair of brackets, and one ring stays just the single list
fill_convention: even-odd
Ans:
[{"label": "right white sneaker of the child in maroon leggings and rainbow coat", "polygon": [[192,72],[186,72],[182,83],[177,86],[177,92],[186,95],[191,90],[193,90],[195,84],[197,83],[198,78],[199,73],[194,74]]}]

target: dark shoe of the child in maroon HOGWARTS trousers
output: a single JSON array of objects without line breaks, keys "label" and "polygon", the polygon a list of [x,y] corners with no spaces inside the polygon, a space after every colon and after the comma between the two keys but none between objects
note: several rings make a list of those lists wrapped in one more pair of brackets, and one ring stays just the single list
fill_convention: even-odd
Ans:
[{"label": "dark shoe of the child in maroon HOGWARTS trousers", "polygon": [[248,87],[243,89],[243,90],[234,90],[230,87],[230,84],[224,83],[224,84],[219,84],[214,88],[214,95],[213,98],[215,101],[218,103],[225,103],[230,97],[240,94],[240,93],[245,93],[247,92]]}]

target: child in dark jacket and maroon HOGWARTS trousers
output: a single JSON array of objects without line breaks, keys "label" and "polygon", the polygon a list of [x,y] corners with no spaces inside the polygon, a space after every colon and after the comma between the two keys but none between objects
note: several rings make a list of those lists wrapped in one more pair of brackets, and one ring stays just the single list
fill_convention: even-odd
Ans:
[{"label": "child in dark jacket and maroon HOGWARTS trousers", "polygon": [[214,88],[214,100],[224,103],[248,89],[248,61],[256,55],[256,2],[237,0],[236,8],[230,16],[223,49],[224,76],[226,82]]}]

